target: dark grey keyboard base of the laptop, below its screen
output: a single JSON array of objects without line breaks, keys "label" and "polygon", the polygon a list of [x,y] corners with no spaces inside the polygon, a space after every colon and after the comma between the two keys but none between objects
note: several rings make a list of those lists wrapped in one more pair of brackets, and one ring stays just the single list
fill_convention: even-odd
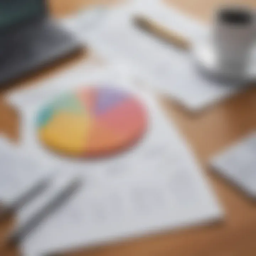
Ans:
[{"label": "dark grey keyboard base of the laptop, below its screen", "polygon": [[50,20],[9,34],[0,41],[0,82],[53,60],[75,45],[74,38]]}]

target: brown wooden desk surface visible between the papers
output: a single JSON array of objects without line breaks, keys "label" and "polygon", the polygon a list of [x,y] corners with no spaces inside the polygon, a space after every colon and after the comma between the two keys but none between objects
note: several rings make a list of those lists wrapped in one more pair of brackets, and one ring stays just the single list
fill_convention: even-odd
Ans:
[{"label": "brown wooden desk surface visible between the papers", "polygon": [[[97,0],[102,2],[103,0]],[[204,21],[223,0],[165,0],[188,14]],[[256,7],[255,0],[239,0]],[[53,14],[62,16],[96,0],[51,0]],[[230,1],[229,1],[230,2]],[[231,1],[234,3],[234,1]],[[236,1],[238,2],[238,1]],[[146,4],[146,1],[145,1]],[[16,83],[36,81],[71,65],[83,58],[82,54],[65,60]],[[5,92],[5,91],[4,91]],[[2,95],[4,95],[2,92]],[[222,204],[225,221],[187,230],[134,239],[111,246],[83,250],[69,255],[85,256],[255,256],[256,255],[256,204],[238,190],[212,175],[206,167],[207,159],[231,142],[256,128],[256,89],[250,89],[200,114],[191,114],[170,101],[161,101],[164,109],[174,119],[182,134],[191,143],[194,153],[209,177],[210,183]],[[0,130],[17,139],[18,116],[0,99]],[[0,224],[5,234],[11,220]],[[9,252],[0,252],[7,256]],[[11,253],[10,255],[18,255]]]}]

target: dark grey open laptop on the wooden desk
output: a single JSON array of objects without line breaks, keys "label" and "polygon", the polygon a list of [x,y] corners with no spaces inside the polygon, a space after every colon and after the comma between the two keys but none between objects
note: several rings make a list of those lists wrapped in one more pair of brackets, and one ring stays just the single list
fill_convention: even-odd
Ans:
[{"label": "dark grey open laptop on the wooden desk", "polygon": [[0,0],[0,84],[81,48],[58,25],[46,0]]}]

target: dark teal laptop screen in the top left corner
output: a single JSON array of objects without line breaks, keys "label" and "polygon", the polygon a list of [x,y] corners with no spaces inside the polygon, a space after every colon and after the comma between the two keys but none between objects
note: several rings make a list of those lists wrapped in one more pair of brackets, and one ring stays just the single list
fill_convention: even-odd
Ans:
[{"label": "dark teal laptop screen in the top left corner", "polygon": [[44,0],[0,0],[0,30],[37,17],[44,12]]}]

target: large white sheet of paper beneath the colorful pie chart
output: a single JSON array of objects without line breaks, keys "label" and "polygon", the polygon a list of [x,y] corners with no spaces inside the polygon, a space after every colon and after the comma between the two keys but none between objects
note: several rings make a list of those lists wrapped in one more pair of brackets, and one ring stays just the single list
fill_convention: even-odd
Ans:
[{"label": "large white sheet of paper beneath the colorful pie chart", "polygon": [[[136,75],[128,70],[118,65],[87,73],[80,65],[35,89],[9,95],[23,114],[23,146],[38,158],[65,166],[86,180],[80,193],[27,236],[23,255],[105,244],[222,216],[174,124],[166,119],[150,92],[135,86]],[[102,160],[75,161],[46,151],[36,137],[37,111],[57,92],[99,83],[122,87],[144,102],[149,128],[143,139],[132,149]]]}]

